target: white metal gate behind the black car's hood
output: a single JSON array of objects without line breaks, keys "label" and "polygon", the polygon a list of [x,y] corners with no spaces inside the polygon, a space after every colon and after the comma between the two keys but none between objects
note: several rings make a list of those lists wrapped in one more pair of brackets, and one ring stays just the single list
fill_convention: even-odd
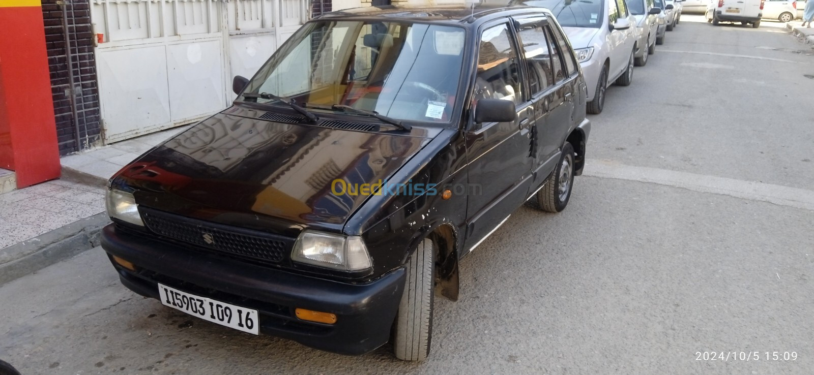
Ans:
[{"label": "white metal gate behind the black car's hood", "polygon": [[93,0],[105,142],[203,119],[307,17],[306,0]]}]

